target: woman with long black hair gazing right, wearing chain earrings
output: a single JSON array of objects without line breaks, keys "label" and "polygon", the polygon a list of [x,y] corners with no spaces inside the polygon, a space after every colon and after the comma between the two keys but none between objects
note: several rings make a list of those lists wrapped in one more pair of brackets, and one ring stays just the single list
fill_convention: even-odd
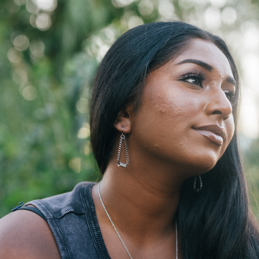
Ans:
[{"label": "woman with long black hair gazing right, wearing chain earrings", "polygon": [[29,202],[42,217],[24,209],[5,216],[0,257],[259,258],[238,97],[237,69],[219,37],[183,22],[126,32],[93,88],[102,181]]}]

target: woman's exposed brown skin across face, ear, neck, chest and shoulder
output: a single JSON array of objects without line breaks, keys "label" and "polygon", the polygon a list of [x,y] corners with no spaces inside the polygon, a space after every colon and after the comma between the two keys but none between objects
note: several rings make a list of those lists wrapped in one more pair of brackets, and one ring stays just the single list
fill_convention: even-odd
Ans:
[{"label": "woman's exposed brown skin across face, ear, neck, chest and shoulder", "polygon": [[[206,62],[211,68],[187,59]],[[186,74],[201,73],[200,81],[197,76],[186,78]],[[114,124],[118,130],[115,147],[119,147],[123,127],[129,165],[117,166],[115,148],[100,192],[132,258],[175,258],[174,216],[181,185],[185,179],[213,168],[234,133],[228,99],[229,92],[234,91],[232,77],[224,54],[214,44],[196,39],[176,59],[147,76],[136,115],[132,105],[119,112]],[[222,144],[194,129],[204,125],[224,128]],[[123,152],[122,148],[121,162],[126,161]],[[92,196],[110,257],[129,258],[102,207],[97,185],[92,188]],[[0,258],[42,258],[43,254],[44,258],[59,258],[48,225],[32,214],[35,213],[16,211],[0,220]],[[22,224],[18,237],[14,222]],[[16,252],[19,242],[22,257]],[[10,251],[13,256],[9,256]],[[46,255],[46,251],[52,252]]]}]

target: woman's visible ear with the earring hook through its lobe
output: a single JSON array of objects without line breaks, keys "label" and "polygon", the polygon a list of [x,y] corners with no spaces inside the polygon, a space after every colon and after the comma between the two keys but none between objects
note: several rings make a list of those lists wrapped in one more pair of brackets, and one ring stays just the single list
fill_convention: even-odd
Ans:
[{"label": "woman's visible ear with the earring hook through its lobe", "polygon": [[132,117],[133,117],[133,104],[128,104],[126,107],[124,106],[121,108],[113,126],[119,132],[122,132],[122,127],[123,127],[123,133],[130,134]]}]

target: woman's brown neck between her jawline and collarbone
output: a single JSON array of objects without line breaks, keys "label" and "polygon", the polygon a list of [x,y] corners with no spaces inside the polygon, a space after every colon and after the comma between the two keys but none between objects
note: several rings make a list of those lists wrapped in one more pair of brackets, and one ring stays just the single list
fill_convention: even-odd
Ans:
[{"label": "woman's brown neck between her jawline and collarbone", "polygon": [[[117,150],[113,154],[100,183],[100,194],[119,233],[133,238],[134,243],[163,240],[175,232],[174,218],[183,181],[198,172],[191,165],[173,163],[170,157],[153,154],[135,142],[127,139],[126,168],[118,167]],[[121,162],[126,161],[123,153]],[[112,227],[97,185],[92,194],[98,221]]]}]

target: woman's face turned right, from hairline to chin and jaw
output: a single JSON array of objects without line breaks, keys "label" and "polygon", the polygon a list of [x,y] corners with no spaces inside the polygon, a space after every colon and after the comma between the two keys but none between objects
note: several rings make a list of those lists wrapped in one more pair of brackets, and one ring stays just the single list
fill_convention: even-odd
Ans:
[{"label": "woman's face turned right, from hairline to chin and jaw", "polygon": [[226,56],[211,42],[192,40],[147,76],[131,136],[150,157],[207,172],[233,136],[234,91]]}]

